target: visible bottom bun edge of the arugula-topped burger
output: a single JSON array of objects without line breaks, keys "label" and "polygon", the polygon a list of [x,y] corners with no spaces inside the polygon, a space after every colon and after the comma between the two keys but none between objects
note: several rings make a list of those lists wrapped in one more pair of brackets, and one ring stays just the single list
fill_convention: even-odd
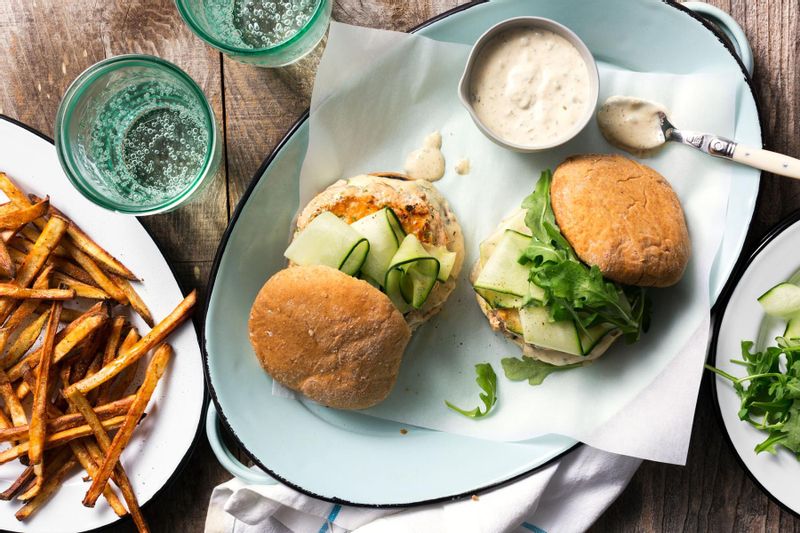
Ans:
[{"label": "visible bottom bun edge of the arugula-topped burger", "polygon": [[[514,231],[519,231],[520,233],[530,235],[530,230],[528,230],[528,228],[525,226],[525,210],[518,209],[500,222],[495,232],[481,243],[481,257],[489,257],[491,255],[495,246],[497,246],[497,243],[503,236],[503,232],[505,232],[507,229],[513,229]],[[470,273],[470,281],[472,283],[475,283],[475,280],[478,279],[482,269],[483,264],[479,258],[475,262],[475,266],[472,268],[472,272]],[[614,343],[614,341],[619,338],[619,335],[608,335],[605,339],[599,342],[588,355],[585,356],[572,355],[565,352],[559,352],[558,350],[540,348],[538,346],[534,346],[533,344],[526,343],[522,338],[522,335],[519,335],[518,333],[515,333],[509,329],[509,322],[519,322],[518,310],[492,309],[489,304],[486,303],[486,300],[481,298],[479,295],[476,294],[475,298],[478,300],[478,306],[481,308],[483,314],[486,315],[486,319],[489,321],[489,325],[494,331],[499,331],[518,344],[519,347],[522,348],[522,354],[526,357],[532,357],[533,359],[538,359],[551,365],[563,366],[574,363],[589,364],[603,355]]]}]

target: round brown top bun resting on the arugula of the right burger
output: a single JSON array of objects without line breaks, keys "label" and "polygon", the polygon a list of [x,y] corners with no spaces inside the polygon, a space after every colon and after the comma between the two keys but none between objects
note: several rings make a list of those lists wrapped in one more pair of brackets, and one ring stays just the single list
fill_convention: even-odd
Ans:
[{"label": "round brown top bun resting on the arugula of the right burger", "polygon": [[667,287],[683,276],[691,244],[680,200],[650,167],[619,155],[561,163],[553,213],[575,253],[625,285]]}]

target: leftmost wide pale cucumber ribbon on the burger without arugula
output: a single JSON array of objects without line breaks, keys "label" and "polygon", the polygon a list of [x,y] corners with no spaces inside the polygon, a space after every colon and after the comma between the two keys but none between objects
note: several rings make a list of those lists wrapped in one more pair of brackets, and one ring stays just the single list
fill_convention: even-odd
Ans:
[{"label": "leftmost wide pale cucumber ribbon on the burger without arugula", "polygon": [[326,265],[354,276],[369,254],[369,241],[326,211],[312,220],[283,255],[298,265]]}]

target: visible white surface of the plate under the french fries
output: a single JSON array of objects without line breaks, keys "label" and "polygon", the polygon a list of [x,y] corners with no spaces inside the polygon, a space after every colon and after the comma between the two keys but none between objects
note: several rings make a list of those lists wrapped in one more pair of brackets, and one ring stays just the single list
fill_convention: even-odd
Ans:
[{"label": "visible white surface of the plate under the french fries", "polygon": [[[0,119],[0,171],[26,191],[49,194],[54,206],[142,278],[136,289],[155,319],[166,316],[183,296],[161,251],[142,225],[133,217],[110,213],[84,199],[61,171],[52,142],[2,115]],[[148,330],[139,317],[134,322],[139,331]],[[205,404],[200,347],[191,323],[181,326],[169,342],[175,355],[153,394],[148,416],[122,454],[141,505],[153,498],[188,459]],[[0,487],[4,490],[21,471],[17,461],[0,466]],[[116,522],[117,515],[102,498],[94,509],[81,504],[87,489],[88,484],[76,473],[24,523],[14,517],[20,502],[0,501],[0,529],[89,531]]]}]

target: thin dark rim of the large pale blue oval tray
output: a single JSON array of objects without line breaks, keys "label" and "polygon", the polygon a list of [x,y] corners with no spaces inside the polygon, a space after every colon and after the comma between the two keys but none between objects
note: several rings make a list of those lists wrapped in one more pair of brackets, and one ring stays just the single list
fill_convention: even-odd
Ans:
[{"label": "thin dark rim of the large pale blue oval tray", "polygon": [[[433,17],[433,18],[423,22],[419,26],[416,26],[416,27],[412,28],[411,30],[409,30],[409,33],[416,33],[419,30],[421,30],[421,29],[423,29],[423,28],[425,28],[425,27],[427,27],[427,26],[429,26],[429,25],[431,25],[431,24],[433,24],[435,22],[443,20],[443,19],[445,19],[445,18],[447,18],[447,17],[449,17],[451,15],[454,15],[456,13],[460,13],[462,11],[465,11],[467,9],[475,7],[477,5],[484,4],[487,1],[488,0],[473,0],[470,3],[457,6],[457,7],[453,8],[453,9],[451,9],[449,11],[445,11],[444,13],[441,13],[440,15],[438,15],[436,17]],[[664,4],[670,6],[670,7],[673,7],[675,9],[677,9],[678,11],[681,11],[681,12],[685,13],[689,17],[693,18],[694,20],[696,20],[700,24],[702,24],[703,27],[705,27],[707,30],[709,30],[711,33],[713,33],[715,37],[717,37],[717,39],[722,44],[722,46],[731,54],[733,59],[736,61],[736,64],[739,65],[739,69],[741,70],[742,75],[744,76],[745,82],[747,83],[747,86],[750,88],[750,92],[752,93],[753,99],[756,102],[756,109],[759,110],[759,126],[761,127],[763,125],[763,119],[761,117],[760,106],[758,105],[758,97],[757,97],[757,94],[756,94],[755,86],[753,84],[753,80],[752,80],[750,74],[747,72],[747,69],[745,68],[745,66],[742,63],[741,59],[736,54],[736,50],[734,49],[734,47],[732,46],[732,44],[730,43],[728,38],[714,24],[712,24],[708,20],[704,19],[701,15],[695,13],[694,11],[691,11],[690,9],[680,5],[676,1],[674,1],[674,0],[662,0],[662,2]],[[214,284],[216,282],[217,272],[219,271],[219,266],[220,266],[220,263],[222,261],[222,256],[225,253],[225,249],[227,248],[227,245],[228,245],[228,239],[230,238],[231,233],[233,232],[233,229],[236,227],[236,222],[239,219],[239,215],[241,214],[242,209],[244,209],[244,206],[247,204],[247,201],[250,198],[250,195],[255,190],[255,187],[260,182],[261,178],[263,177],[263,175],[266,172],[267,168],[272,163],[272,161],[275,158],[275,156],[281,151],[281,149],[284,147],[284,145],[286,145],[286,143],[289,142],[289,140],[292,138],[292,136],[295,134],[295,132],[300,128],[300,126],[302,126],[302,124],[308,119],[308,116],[309,116],[309,111],[306,110],[303,113],[303,115],[299,119],[297,119],[297,121],[291,126],[291,128],[289,128],[289,131],[286,133],[286,135],[283,137],[283,139],[280,140],[280,142],[275,146],[275,148],[272,150],[272,152],[266,157],[266,159],[264,159],[264,162],[261,164],[261,166],[258,168],[258,170],[256,170],[256,173],[254,174],[252,181],[248,185],[247,190],[244,192],[244,194],[242,195],[241,199],[239,200],[239,203],[236,205],[236,209],[234,210],[234,212],[233,212],[233,214],[231,216],[230,222],[228,223],[228,227],[225,229],[225,233],[222,236],[222,240],[220,241],[219,247],[217,248],[217,253],[216,253],[215,257],[214,257],[214,263],[211,266],[211,272],[209,274],[209,279],[208,279],[208,290],[207,290],[207,293],[206,293],[205,310],[204,310],[204,313],[203,313],[204,317],[208,314],[208,305],[209,305],[209,302],[211,301],[211,294],[212,294],[212,292],[214,290]],[[763,127],[761,129],[763,130]],[[761,194],[760,184],[761,183],[759,182],[759,196]],[[750,223],[750,225],[748,227],[748,234],[750,234],[751,230],[752,230],[752,220],[751,220],[751,223]],[[734,271],[736,271],[737,268],[740,268],[740,265],[739,265],[740,263],[741,263],[741,258],[739,258],[739,260],[737,261],[736,266],[734,267]],[[726,290],[728,290],[728,286],[729,285],[730,285],[730,280],[728,280],[728,282],[725,285],[725,288],[723,288],[723,291],[722,291],[723,294],[725,293]],[[204,322],[205,322],[205,319],[204,319]],[[210,371],[209,371],[209,366],[208,366],[208,351],[206,349],[205,329],[203,329],[203,332],[202,332],[202,335],[201,335],[200,345],[201,345],[201,348],[202,348],[202,351],[203,351],[203,362],[204,362],[204,366],[205,366],[204,370],[205,370],[205,376],[206,376],[206,385],[207,385],[207,388],[208,388],[209,392],[211,393],[211,400],[214,402],[214,405],[216,406],[217,414],[218,414],[218,417],[219,417],[219,422],[227,430],[227,432],[233,437],[233,439],[235,440],[235,442],[239,446],[239,448],[242,450],[242,452],[244,452],[244,454],[247,455],[247,457],[249,457],[250,460],[253,461],[253,463],[255,463],[261,470],[263,470],[270,477],[276,479],[277,481],[283,483],[284,485],[286,485],[288,487],[291,487],[291,488],[297,490],[298,492],[301,492],[301,493],[303,493],[303,494],[305,494],[307,496],[311,496],[313,498],[318,498],[320,500],[327,501],[327,502],[330,502],[330,503],[336,503],[336,504],[341,504],[341,505],[350,505],[350,506],[353,506],[353,507],[369,507],[369,508],[378,508],[378,509],[388,509],[388,508],[417,507],[417,506],[420,506],[420,505],[428,505],[428,504],[432,504],[432,503],[456,501],[456,500],[460,500],[460,499],[464,499],[464,498],[469,498],[473,494],[486,492],[488,490],[500,488],[500,487],[509,485],[511,483],[514,483],[515,481],[518,481],[518,480],[520,480],[522,478],[525,478],[525,477],[527,477],[527,476],[529,476],[529,475],[531,475],[531,474],[533,474],[533,473],[535,473],[535,472],[537,472],[537,471],[549,466],[553,462],[561,459],[566,454],[571,453],[572,451],[574,451],[577,448],[582,446],[582,443],[577,443],[577,444],[573,445],[572,447],[568,448],[567,450],[565,450],[565,451],[561,452],[560,454],[556,455],[555,457],[549,459],[548,461],[545,461],[544,463],[540,464],[539,466],[536,466],[536,467],[534,467],[534,468],[532,468],[532,469],[530,469],[530,470],[528,470],[526,472],[523,472],[521,474],[515,475],[515,476],[513,476],[513,477],[511,477],[509,479],[506,479],[504,481],[500,481],[500,482],[496,482],[496,483],[490,483],[490,484],[482,486],[482,487],[476,487],[475,489],[473,489],[473,490],[471,490],[469,492],[464,492],[464,493],[460,493],[460,494],[452,494],[452,495],[449,495],[449,496],[443,496],[443,497],[439,497],[439,498],[431,498],[431,499],[428,499],[428,500],[407,502],[407,503],[402,503],[402,504],[365,504],[365,503],[351,502],[351,501],[348,501],[348,500],[343,500],[343,499],[337,498],[335,496],[323,496],[321,494],[316,494],[316,493],[314,493],[312,491],[309,491],[309,490],[307,490],[307,489],[305,489],[305,488],[303,488],[303,487],[301,487],[299,485],[296,485],[296,484],[292,483],[291,481],[289,481],[287,479],[284,479],[283,477],[277,475],[275,472],[270,470],[262,461],[260,461],[255,456],[255,454],[253,454],[242,443],[241,439],[239,438],[239,436],[236,434],[236,432],[234,431],[233,427],[231,426],[231,423],[228,421],[227,417],[225,416],[225,413],[222,410],[222,406],[220,405],[219,400],[217,398],[216,391],[214,390],[214,386],[211,383]]]}]

